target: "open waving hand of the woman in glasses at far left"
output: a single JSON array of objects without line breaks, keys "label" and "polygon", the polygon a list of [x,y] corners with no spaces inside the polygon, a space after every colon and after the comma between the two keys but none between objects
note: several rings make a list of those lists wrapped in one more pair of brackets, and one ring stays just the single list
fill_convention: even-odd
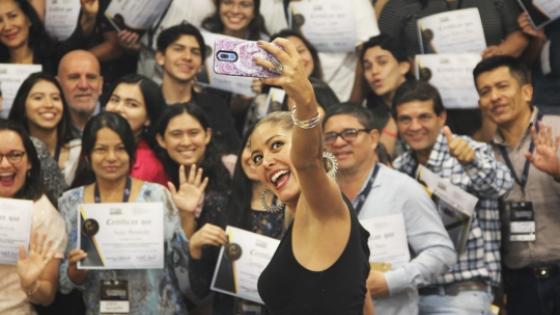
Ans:
[{"label": "open waving hand of the woman in glasses at far left", "polygon": [[29,253],[25,252],[23,245],[19,247],[17,273],[21,288],[29,292],[39,281],[41,274],[54,257],[53,242],[46,235],[33,233],[29,242]]}]

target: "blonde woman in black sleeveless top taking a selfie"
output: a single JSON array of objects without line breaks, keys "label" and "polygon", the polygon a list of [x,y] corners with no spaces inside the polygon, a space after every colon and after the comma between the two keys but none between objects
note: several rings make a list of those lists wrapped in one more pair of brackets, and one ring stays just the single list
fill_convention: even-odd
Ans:
[{"label": "blonde woman in black sleeveless top taking a selfie", "polygon": [[263,83],[282,87],[296,104],[291,114],[263,118],[250,139],[259,180],[294,216],[259,278],[260,296],[273,314],[360,314],[369,234],[325,170],[318,105],[298,52],[283,38],[259,44],[280,63],[257,60],[280,73]]}]

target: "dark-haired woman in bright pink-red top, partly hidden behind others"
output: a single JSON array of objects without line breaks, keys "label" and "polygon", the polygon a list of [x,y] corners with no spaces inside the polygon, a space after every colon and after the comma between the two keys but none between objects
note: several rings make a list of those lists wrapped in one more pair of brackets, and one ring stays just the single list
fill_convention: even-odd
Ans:
[{"label": "dark-haired woman in bright pink-red top, partly hidden behind others", "polygon": [[139,74],[126,75],[115,83],[105,110],[124,117],[136,140],[136,160],[130,176],[167,185],[163,165],[156,157],[153,126],[165,108],[161,88]]}]

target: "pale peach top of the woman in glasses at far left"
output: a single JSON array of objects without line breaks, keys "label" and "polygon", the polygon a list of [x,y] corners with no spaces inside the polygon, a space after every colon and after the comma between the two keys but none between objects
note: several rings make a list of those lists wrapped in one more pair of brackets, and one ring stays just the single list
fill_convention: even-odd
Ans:
[{"label": "pale peach top of the woman in glasses at far left", "polygon": [[[62,259],[67,233],[64,219],[43,195],[33,205],[32,233],[47,235],[56,248],[55,257]],[[21,289],[15,265],[0,265],[0,315],[29,315],[35,310]]]}]

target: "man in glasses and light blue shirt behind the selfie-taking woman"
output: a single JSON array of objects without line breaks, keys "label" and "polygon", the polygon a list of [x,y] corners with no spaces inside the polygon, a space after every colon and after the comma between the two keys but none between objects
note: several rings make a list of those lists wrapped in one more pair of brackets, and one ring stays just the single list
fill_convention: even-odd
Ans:
[{"label": "man in glasses and light blue shirt behind the selfie-taking woman", "polygon": [[358,218],[397,216],[404,223],[406,235],[400,236],[407,240],[405,251],[410,248],[414,252],[407,263],[372,266],[366,285],[376,312],[418,314],[418,285],[447,271],[456,254],[434,203],[422,187],[378,163],[375,149],[379,132],[373,124],[371,113],[359,105],[336,106],[325,115],[325,147],[338,160],[337,182]]}]

